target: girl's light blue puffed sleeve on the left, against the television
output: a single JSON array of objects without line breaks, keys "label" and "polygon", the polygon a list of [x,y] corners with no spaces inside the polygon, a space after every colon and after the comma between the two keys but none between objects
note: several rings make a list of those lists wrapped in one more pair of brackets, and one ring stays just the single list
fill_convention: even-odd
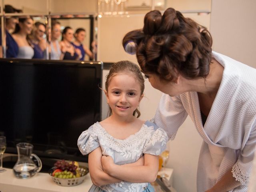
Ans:
[{"label": "girl's light blue puffed sleeve on the left, against the television", "polygon": [[88,130],[85,130],[82,132],[82,134],[79,136],[77,145],[80,150],[80,152],[83,155],[87,155],[90,152],[92,152],[94,149],[98,148],[100,146],[98,136],[93,131],[94,125],[90,126]]}]

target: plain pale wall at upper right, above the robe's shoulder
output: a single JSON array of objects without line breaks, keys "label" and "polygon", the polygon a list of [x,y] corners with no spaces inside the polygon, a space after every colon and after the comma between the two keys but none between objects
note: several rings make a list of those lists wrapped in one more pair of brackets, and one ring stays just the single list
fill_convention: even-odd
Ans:
[{"label": "plain pale wall at upper right, above the robe's shoulder", "polygon": [[256,68],[255,19],[255,0],[212,0],[213,50]]}]

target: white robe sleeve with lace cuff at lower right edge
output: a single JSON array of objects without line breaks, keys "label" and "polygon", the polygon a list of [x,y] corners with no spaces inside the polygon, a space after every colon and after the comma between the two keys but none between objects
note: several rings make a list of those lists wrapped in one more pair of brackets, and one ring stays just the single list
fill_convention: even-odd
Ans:
[{"label": "white robe sleeve with lace cuff at lower right edge", "polygon": [[253,158],[256,145],[256,120],[253,123],[250,136],[238,157],[238,160],[232,167],[233,177],[241,184],[249,182],[249,177],[252,172]]}]

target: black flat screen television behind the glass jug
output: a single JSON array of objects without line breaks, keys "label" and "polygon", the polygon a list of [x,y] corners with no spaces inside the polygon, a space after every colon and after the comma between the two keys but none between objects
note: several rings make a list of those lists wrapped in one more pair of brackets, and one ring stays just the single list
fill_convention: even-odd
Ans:
[{"label": "black flat screen television behind the glass jug", "polygon": [[[0,135],[6,136],[6,153],[16,154],[17,143],[29,142],[42,171],[56,159],[88,161],[77,139],[101,120],[102,68],[102,62],[0,59]],[[3,165],[12,167],[12,158]]]}]

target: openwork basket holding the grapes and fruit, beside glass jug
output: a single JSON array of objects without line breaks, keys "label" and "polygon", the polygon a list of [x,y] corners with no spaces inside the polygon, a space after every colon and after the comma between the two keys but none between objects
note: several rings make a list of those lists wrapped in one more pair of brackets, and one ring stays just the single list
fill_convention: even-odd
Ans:
[{"label": "openwork basket holding the grapes and fruit, beside glass jug", "polygon": [[77,178],[56,178],[54,176],[52,176],[52,172],[56,169],[56,167],[52,167],[49,170],[49,174],[52,178],[52,180],[54,181],[54,183],[56,183],[57,185],[60,186],[76,186],[81,184],[84,179],[86,174],[88,174],[89,169],[87,167],[79,167],[78,171],[80,172],[80,177]]}]

